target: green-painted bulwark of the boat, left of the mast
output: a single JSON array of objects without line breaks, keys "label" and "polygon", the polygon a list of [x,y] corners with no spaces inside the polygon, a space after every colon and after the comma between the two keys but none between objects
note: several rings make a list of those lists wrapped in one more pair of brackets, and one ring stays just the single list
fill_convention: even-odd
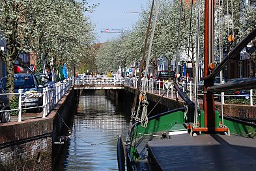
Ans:
[{"label": "green-painted bulwark of the boat, left of the mast", "polygon": [[[142,127],[141,125],[137,125],[135,127],[135,131],[139,134],[152,134],[159,131],[165,131],[171,129],[175,124],[183,124],[184,120],[184,112],[176,111],[161,116],[160,118],[155,118],[150,120],[147,124],[147,127]],[[136,130],[137,129],[137,130]]]}]

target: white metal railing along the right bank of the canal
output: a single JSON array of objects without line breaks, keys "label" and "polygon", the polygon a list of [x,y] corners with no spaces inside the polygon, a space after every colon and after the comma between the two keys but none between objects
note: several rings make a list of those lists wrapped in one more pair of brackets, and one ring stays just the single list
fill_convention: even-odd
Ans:
[{"label": "white metal railing along the right bank of the canal", "polygon": [[[143,80],[142,80],[143,81]],[[135,77],[133,78],[125,78],[124,85],[130,86],[130,87],[137,87],[137,79]],[[179,84],[183,90],[186,89],[188,97],[193,100],[193,89],[194,89],[194,84],[190,81],[188,84],[182,82]],[[203,86],[203,84],[199,84],[198,86]],[[169,88],[169,90],[167,90]],[[175,89],[173,88],[173,82],[172,81],[156,81],[154,79],[147,79],[146,81],[146,91],[151,92],[154,94],[158,95],[163,95],[168,97],[168,98],[176,98],[178,97],[178,94],[176,94]],[[253,95],[253,91],[255,90],[249,90],[249,94],[214,94],[216,98],[221,99],[222,98],[222,103],[225,103],[225,99],[227,98],[245,98],[249,99],[249,104],[252,106],[253,105],[253,98],[256,97]],[[174,96],[175,95],[175,96]],[[198,92],[199,98],[203,99],[203,93],[202,90],[201,92]]]}]

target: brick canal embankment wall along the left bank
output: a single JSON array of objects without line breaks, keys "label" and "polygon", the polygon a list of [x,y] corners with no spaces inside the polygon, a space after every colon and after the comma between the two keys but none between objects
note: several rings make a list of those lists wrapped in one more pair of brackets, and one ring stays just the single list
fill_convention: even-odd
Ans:
[{"label": "brick canal embankment wall along the left bank", "polygon": [[70,87],[46,118],[1,124],[0,170],[51,170],[75,96]]}]

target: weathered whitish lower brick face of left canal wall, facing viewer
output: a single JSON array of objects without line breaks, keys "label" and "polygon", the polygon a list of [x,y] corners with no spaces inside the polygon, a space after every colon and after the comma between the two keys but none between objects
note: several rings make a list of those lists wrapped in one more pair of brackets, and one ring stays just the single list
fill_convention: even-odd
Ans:
[{"label": "weathered whitish lower brick face of left canal wall, facing viewer", "polygon": [[51,170],[51,137],[0,148],[0,170]]}]

